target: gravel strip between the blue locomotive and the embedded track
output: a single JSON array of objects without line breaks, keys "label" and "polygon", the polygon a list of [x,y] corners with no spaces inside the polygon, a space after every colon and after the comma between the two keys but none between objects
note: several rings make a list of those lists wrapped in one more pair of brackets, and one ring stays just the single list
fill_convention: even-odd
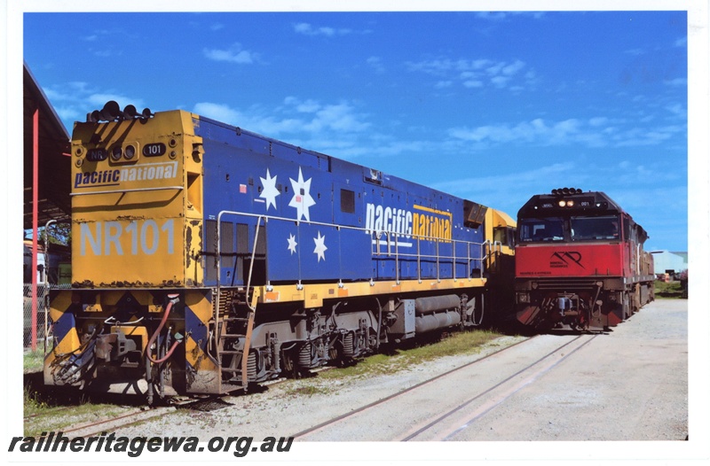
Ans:
[{"label": "gravel strip between the blue locomotive and the embedded track", "polygon": [[253,436],[255,439],[288,437],[524,339],[497,338],[486,344],[480,353],[447,356],[388,375],[288,380],[261,393],[227,397],[225,401],[229,405],[224,408],[209,412],[178,410],[174,415],[119,429],[116,434],[195,436],[203,440],[217,435]]}]

